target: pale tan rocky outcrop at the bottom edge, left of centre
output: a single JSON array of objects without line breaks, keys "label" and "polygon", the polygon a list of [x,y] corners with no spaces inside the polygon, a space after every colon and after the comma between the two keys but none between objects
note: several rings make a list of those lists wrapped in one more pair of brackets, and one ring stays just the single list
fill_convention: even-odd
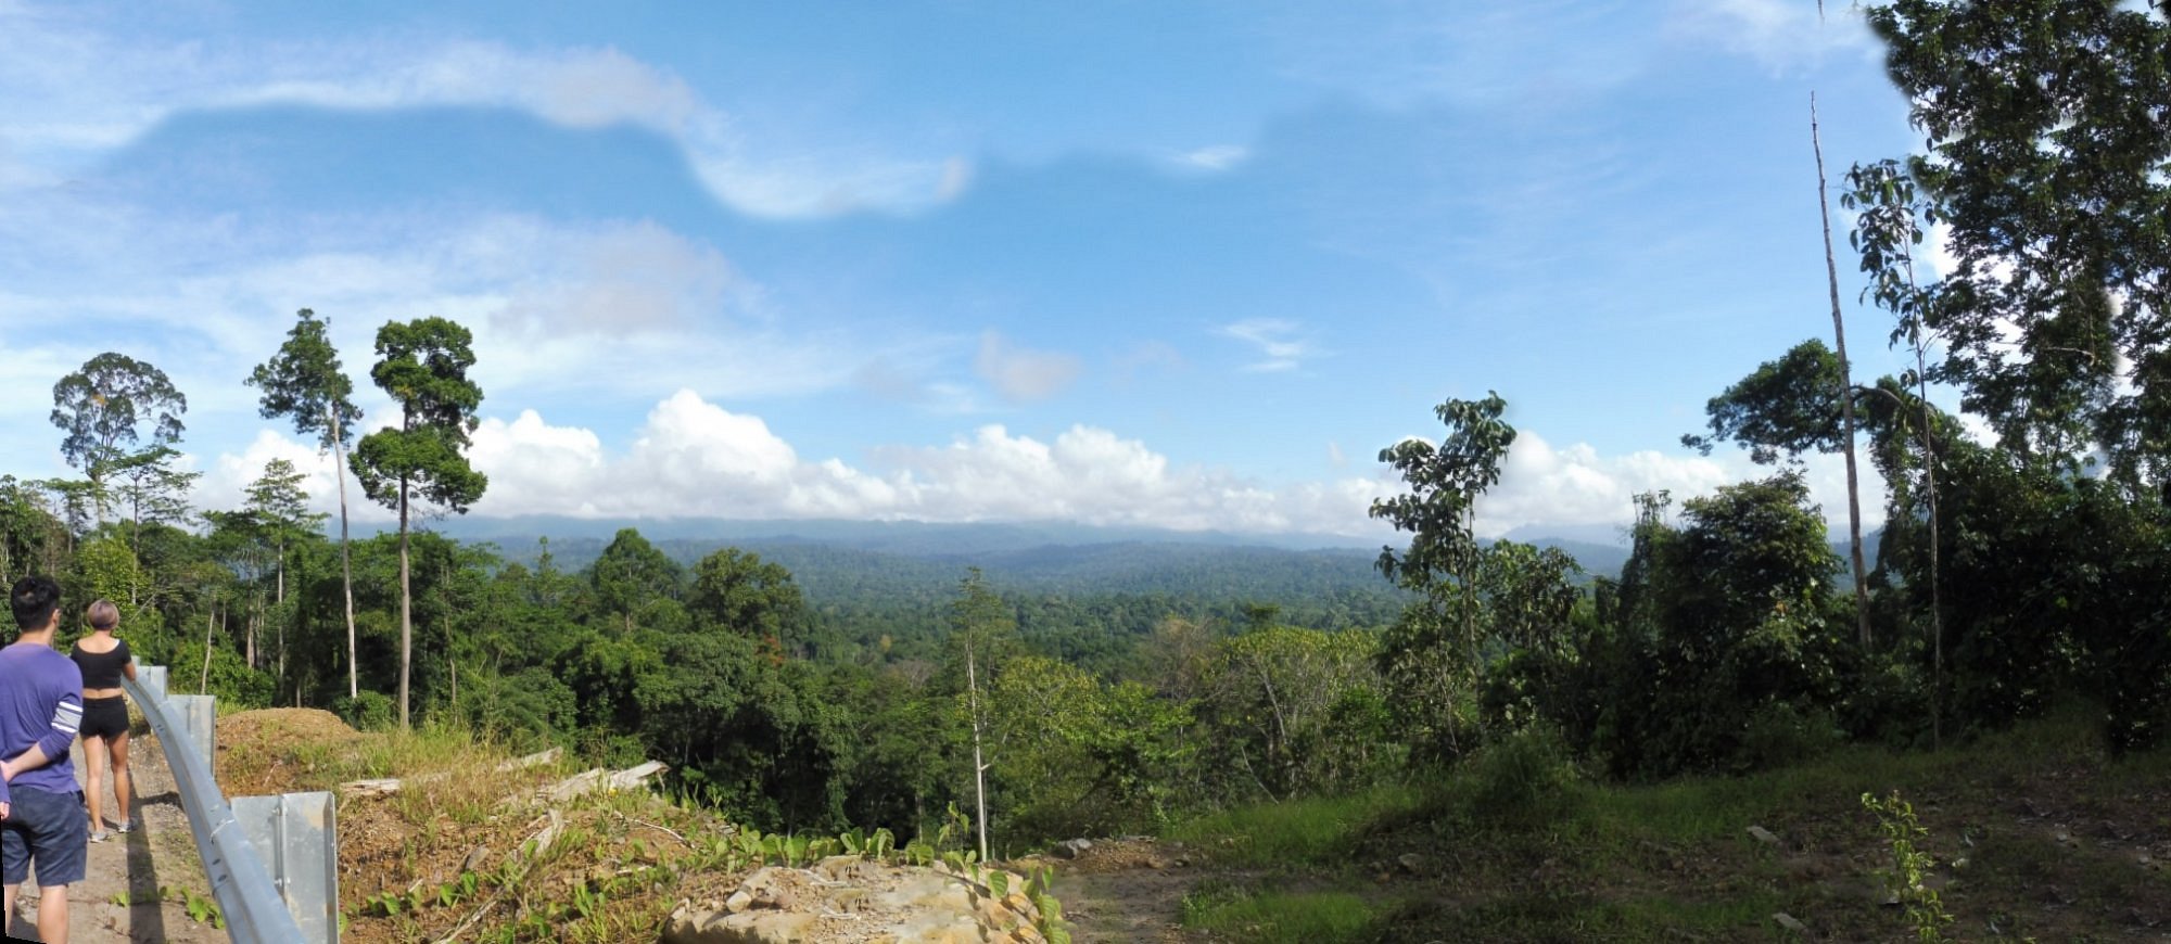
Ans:
[{"label": "pale tan rocky outcrop at the bottom edge, left of centre", "polygon": [[[960,875],[834,855],[812,868],[756,870],[723,901],[680,903],[664,944],[1038,944],[1040,909],[1025,877]],[[1005,894],[996,894],[1001,885]]]}]

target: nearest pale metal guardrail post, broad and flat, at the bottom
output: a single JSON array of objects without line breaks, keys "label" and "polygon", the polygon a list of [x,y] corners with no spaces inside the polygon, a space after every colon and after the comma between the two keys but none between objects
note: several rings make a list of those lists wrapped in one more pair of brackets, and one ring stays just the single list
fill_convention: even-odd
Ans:
[{"label": "nearest pale metal guardrail post, broad and flat, at the bottom", "polygon": [[332,794],[234,796],[234,822],[265,859],[304,944],[339,942],[339,829]]}]

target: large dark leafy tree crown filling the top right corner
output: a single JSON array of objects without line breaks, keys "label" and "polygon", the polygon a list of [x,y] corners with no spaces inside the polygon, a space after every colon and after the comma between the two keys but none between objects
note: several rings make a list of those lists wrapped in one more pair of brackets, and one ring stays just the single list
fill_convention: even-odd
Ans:
[{"label": "large dark leafy tree crown filling the top right corner", "polygon": [[2171,484],[2171,22],[2162,0],[1867,9],[1928,154],[1908,176],[1954,258],[1924,312],[2021,458]]}]

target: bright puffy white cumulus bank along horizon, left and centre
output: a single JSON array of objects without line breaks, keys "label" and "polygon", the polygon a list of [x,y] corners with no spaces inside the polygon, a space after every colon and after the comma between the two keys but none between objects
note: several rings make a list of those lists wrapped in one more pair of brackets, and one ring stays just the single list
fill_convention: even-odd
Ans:
[{"label": "bright puffy white cumulus bank along horizon, left and centre", "polygon": [[[265,430],[241,454],[211,462],[206,508],[232,508],[271,458],[308,473],[319,510],[334,510],[330,456]],[[680,391],[649,410],[623,454],[584,428],[525,410],[484,419],[469,451],[491,477],[473,514],[588,519],[881,519],[1079,521],[1172,530],[1374,534],[1366,519],[1379,480],[1268,488],[1227,471],[1177,467],[1140,441],[1075,425],[1053,441],[983,425],[947,447],[888,447],[877,467],[808,460],[760,417]],[[354,490],[350,486],[350,490]],[[358,490],[354,490],[358,501]],[[389,512],[356,503],[356,521]]]}]

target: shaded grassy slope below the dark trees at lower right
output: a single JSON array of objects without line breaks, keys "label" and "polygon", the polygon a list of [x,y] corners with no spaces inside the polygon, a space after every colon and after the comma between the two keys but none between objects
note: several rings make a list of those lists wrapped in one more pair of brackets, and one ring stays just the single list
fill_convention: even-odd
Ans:
[{"label": "shaded grassy slope below the dark trees at lower right", "polygon": [[[1194,927],[1231,940],[1789,940],[1776,911],[1815,940],[1900,940],[1895,846],[1861,805],[1900,792],[1947,935],[2110,940],[2171,927],[2167,773],[2171,749],[2112,760],[2073,710],[1939,753],[1850,744],[1648,786],[1580,779],[1535,736],[1415,788],[1231,809],[1175,838],[1303,890],[1198,896]],[[1311,931],[1303,907],[1337,924]]]}]

